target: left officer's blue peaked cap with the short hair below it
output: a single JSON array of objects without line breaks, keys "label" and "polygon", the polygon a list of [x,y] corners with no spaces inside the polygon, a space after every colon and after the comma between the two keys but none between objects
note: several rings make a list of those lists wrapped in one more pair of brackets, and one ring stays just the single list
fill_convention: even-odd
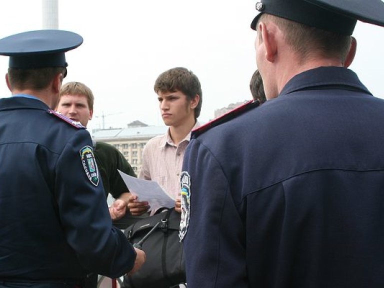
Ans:
[{"label": "left officer's blue peaked cap with the short hair below it", "polygon": [[65,52],[81,45],[82,37],[58,29],[26,31],[0,39],[0,55],[9,56],[11,90],[42,90],[58,74],[66,76]]}]

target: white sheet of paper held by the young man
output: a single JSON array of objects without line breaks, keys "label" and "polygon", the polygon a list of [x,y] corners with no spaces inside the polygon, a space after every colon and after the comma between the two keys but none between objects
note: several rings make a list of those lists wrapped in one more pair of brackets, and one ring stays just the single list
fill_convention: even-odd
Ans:
[{"label": "white sheet of paper held by the young man", "polygon": [[171,197],[156,181],[138,179],[117,169],[129,191],[139,201],[148,201],[150,210],[161,207],[174,207],[175,199]]}]

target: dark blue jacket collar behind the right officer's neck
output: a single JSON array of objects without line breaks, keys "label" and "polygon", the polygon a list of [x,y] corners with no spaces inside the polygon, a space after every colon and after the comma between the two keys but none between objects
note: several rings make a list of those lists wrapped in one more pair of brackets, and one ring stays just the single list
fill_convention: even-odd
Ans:
[{"label": "dark blue jacket collar behind the right officer's neck", "polygon": [[317,67],[301,72],[292,77],[282,88],[280,94],[283,96],[299,90],[342,88],[360,90],[371,94],[360,82],[355,72],[344,67]]}]

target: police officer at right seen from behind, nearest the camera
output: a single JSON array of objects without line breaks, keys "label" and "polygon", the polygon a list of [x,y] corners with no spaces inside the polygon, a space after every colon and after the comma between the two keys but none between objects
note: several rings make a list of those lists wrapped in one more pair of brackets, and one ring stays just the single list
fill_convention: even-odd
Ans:
[{"label": "police officer at right seen from behind, nearest the camera", "polygon": [[268,100],[194,131],[184,157],[188,288],[384,287],[384,100],[347,68],[384,2],[256,8]]}]

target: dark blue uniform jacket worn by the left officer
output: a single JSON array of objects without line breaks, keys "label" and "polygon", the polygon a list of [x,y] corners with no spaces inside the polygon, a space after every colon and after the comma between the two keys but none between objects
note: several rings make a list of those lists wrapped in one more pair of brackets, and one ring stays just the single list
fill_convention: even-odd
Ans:
[{"label": "dark blue uniform jacket worn by the left officer", "polygon": [[86,176],[89,133],[37,99],[0,99],[0,280],[121,276],[135,252]]}]

